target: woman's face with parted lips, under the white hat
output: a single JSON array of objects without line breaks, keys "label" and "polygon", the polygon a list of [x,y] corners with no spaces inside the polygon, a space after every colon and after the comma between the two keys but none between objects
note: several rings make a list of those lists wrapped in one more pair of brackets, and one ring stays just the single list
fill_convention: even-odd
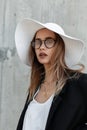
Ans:
[{"label": "woman's face with parted lips, under the white hat", "polygon": [[[48,29],[41,29],[37,32],[35,39],[37,44],[37,47],[35,48],[35,53],[38,61],[44,66],[50,65],[51,57],[55,50],[55,44],[56,44],[55,33]],[[38,39],[40,41],[38,41]],[[44,40],[46,44],[44,44]],[[38,42],[41,41],[42,44],[38,45]]]}]

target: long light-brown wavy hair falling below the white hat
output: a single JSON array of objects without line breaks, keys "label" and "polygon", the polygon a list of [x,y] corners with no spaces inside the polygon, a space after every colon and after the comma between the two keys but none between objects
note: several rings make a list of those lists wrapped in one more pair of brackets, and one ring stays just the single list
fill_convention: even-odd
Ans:
[{"label": "long light-brown wavy hair falling below the white hat", "polygon": [[[35,40],[37,32],[35,33],[32,41]],[[80,64],[81,67],[78,70],[70,69],[65,63],[64,41],[57,33],[55,33],[55,36],[58,44],[56,44],[55,51],[52,55],[49,71],[50,73],[52,72],[53,80],[57,83],[55,93],[57,94],[66,83],[67,79],[77,77],[77,75],[84,69],[84,65]],[[35,54],[35,49],[32,47],[31,44],[29,48],[29,61],[31,64],[29,99],[32,99],[36,89],[45,78],[45,69],[43,64],[38,62]]]}]

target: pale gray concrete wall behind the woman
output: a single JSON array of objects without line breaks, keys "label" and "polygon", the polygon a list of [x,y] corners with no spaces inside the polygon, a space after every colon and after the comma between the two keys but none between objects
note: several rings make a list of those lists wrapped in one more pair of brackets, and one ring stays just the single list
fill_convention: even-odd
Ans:
[{"label": "pale gray concrete wall behind the woman", "polygon": [[[29,85],[30,68],[15,49],[17,22],[25,17],[57,22],[87,47],[87,0],[0,0],[0,130],[15,130]],[[87,49],[82,62],[86,65]]]}]

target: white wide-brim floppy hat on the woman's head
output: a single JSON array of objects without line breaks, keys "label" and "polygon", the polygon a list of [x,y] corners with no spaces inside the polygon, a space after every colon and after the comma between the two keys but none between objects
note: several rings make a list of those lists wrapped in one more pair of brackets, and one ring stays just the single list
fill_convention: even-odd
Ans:
[{"label": "white wide-brim floppy hat on the woman's head", "polygon": [[83,52],[84,43],[80,39],[65,34],[61,26],[55,23],[41,23],[33,19],[24,19],[19,22],[15,31],[15,43],[18,55],[22,62],[30,66],[29,46],[34,34],[41,28],[47,28],[61,36],[65,43],[65,63],[71,69],[77,69]]}]

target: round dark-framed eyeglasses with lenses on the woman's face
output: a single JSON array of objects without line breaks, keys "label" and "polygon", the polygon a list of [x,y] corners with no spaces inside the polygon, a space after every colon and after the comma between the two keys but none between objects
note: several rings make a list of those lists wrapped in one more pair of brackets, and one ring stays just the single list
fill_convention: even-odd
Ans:
[{"label": "round dark-framed eyeglasses with lenses on the woman's face", "polygon": [[38,38],[35,39],[35,41],[31,42],[31,45],[32,47],[39,49],[43,43],[46,48],[50,49],[54,47],[56,40],[51,37],[47,37],[45,40],[41,40],[40,38]]}]

